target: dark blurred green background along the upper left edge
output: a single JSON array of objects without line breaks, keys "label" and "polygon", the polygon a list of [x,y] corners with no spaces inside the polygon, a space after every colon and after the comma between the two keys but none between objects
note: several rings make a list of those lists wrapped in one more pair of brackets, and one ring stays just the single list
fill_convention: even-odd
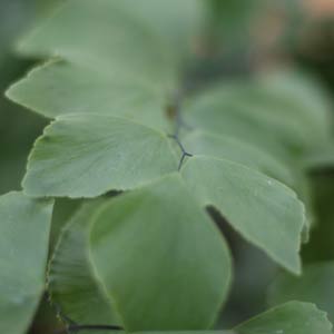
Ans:
[{"label": "dark blurred green background along the upper left edge", "polygon": [[20,188],[27,155],[45,121],[9,102],[3,92],[32,63],[13,55],[19,33],[37,14],[37,2],[2,0],[0,10],[0,194]]}]

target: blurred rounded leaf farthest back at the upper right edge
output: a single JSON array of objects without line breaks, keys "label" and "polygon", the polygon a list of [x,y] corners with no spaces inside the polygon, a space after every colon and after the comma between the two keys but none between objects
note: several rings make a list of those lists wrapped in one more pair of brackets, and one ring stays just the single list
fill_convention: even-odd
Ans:
[{"label": "blurred rounded leaf farthest back at the upper right edge", "polygon": [[[276,78],[278,77],[278,78]],[[289,76],[272,75],[249,82],[230,104],[239,105],[272,130],[272,136],[293,150],[305,151],[330,137],[328,110],[314,106],[303,91],[303,81],[289,82]],[[299,85],[298,85],[299,84]],[[306,90],[311,99],[314,92]],[[304,95],[303,95],[304,92]],[[305,100],[308,101],[305,104]]]}]

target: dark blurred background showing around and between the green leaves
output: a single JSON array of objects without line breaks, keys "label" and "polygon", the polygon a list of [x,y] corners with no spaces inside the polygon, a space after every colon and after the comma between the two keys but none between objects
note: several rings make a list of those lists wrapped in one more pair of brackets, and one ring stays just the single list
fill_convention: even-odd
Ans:
[{"label": "dark blurred background showing around and between the green leaves", "polygon": [[[20,189],[29,150],[47,124],[42,117],[11,104],[3,96],[9,85],[33,66],[32,61],[14,55],[14,42],[59,2],[62,1],[0,0],[0,194]],[[222,77],[243,78],[288,66],[313,76],[321,89],[334,97],[333,0],[206,2],[207,24],[196,41],[196,61],[190,67],[193,85],[205,85]],[[333,261],[334,170],[311,170],[307,178],[318,224],[311,243],[303,249],[303,258],[306,263]],[[76,206],[77,203],[67,200],[57,203],[51,247]],[[218,223],[228,235],[236,263],[233,292],[218,322],[218,327],[230,327],[266,310],[266,288],[278,268],[224,222]],[[30,333],[52,333],[59,326],[53,314],[42,301]]]}]

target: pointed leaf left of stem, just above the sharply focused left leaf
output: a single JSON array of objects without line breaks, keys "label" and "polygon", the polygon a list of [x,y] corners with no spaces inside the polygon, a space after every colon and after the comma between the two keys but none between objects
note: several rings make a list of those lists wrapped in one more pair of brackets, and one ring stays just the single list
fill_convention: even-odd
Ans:
[{"label": "pointed leaf left of stem, just above the sharply focused left leaf", "polygon": [[163,110],[165,95],[137,78],[122,80],[59,60],[33,69],[7,91],[11,100],[49,118],[76,112],[109,114],[159,129],[168,128]]}]

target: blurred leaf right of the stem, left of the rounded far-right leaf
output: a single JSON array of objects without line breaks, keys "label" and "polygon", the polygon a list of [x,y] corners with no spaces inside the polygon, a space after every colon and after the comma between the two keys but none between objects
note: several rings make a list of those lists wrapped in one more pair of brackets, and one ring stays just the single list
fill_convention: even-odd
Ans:
[{"label": "blurred leaf right of the stem, left of the rounded far-right leaf", "polygon": [[227,88],[213,89],[190,99],[184,108],[185,124],[195,130],[249,143],[284,163],[289,161],[287,149],[273,136],[273,130],[249,112],[249,107],[229,102],[234,98],[228,95]]}]

